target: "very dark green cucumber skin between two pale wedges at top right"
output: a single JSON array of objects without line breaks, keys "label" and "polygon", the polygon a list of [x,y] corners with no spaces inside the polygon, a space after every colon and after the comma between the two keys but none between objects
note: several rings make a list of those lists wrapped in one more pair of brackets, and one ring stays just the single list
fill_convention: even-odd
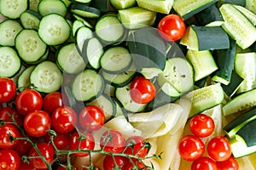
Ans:
[{"label": "very dark green cucumber skin between two pale wedges at top right", "polygon": [[223,21],[224,19],[220,14],[216,3],[212,4],[210,7],[202,10],[201,12],[195,14],[195,20],[197,26],[206,26],[215,21]]}]

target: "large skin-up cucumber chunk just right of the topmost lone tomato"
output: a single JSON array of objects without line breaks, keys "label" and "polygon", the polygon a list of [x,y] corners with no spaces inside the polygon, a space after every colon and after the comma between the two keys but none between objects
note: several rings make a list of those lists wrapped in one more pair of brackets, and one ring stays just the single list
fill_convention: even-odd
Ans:
[{"label": "large skin-up cucumber chunk just right of the topmost lone tomato", "polygon": [[199,51],[230,48],[229,36],[220,26],[189,26],[180,43]]}]

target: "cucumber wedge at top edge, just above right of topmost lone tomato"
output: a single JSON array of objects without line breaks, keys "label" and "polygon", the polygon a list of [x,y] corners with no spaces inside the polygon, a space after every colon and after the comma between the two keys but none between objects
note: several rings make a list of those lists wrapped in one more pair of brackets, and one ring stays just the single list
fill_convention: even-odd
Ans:
[{"label": "cucumber wedge at top edge, just above right of topmost lone tomato", "polygon": [[218,2],[218,0],[175,0],[173,3],[173,8],[177,14],[183,17],[184,20],[188,20],[194,14],[199,13],[216,2]]}]

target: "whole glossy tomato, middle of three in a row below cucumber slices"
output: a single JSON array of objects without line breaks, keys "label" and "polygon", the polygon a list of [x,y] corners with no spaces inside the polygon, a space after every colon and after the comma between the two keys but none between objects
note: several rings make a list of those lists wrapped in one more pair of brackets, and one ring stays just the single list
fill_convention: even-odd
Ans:
[{"label": "whole glossy tomato, middle of three in a row below cucumber slices", "polygon": [[71,107],[61,106],[52,112],[52,127],[58,133],[70,133],[77,124],[77,114]]}]

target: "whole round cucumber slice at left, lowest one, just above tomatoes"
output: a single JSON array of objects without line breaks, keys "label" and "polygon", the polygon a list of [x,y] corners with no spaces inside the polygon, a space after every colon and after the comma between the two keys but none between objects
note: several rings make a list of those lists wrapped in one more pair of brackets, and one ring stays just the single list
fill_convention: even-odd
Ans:
[{"label": "whole round cucumber slice at left, lowest one, just above tomatoes", "polygon": [[30,75],[30,83],[42,93],[51,93],[61,88],[62,75],[58,66],[51,61],[37,65]]}]

